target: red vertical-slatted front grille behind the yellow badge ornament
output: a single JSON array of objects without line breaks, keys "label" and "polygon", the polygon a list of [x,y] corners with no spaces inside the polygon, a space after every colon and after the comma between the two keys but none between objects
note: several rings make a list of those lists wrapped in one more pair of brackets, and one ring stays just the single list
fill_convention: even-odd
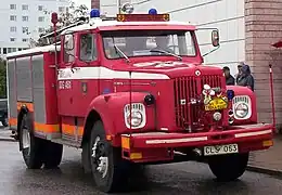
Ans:
[{"label": "red vertical-slatted front grille behind the yellow badge ornament", "polygon": [[180,128],[193,128],[198,125],[198,104],[192,104],[200,99],[204,84],[211,88],[222,88],[222,76],[179,77],[175,84],[176,123]]}]

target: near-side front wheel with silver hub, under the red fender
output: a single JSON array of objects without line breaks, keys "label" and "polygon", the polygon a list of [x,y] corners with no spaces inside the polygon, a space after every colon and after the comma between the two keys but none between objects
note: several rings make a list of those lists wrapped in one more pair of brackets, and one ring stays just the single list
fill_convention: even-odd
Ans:
[{"label": "near-side front wheel with silver hub, under the red fender", "polygon": [[89,143],[91,172],[98,188],[105,193],[121,190],[128,179],[130,162],[121,159],[120,148],[106,141],[102,121],[94,123]]}]

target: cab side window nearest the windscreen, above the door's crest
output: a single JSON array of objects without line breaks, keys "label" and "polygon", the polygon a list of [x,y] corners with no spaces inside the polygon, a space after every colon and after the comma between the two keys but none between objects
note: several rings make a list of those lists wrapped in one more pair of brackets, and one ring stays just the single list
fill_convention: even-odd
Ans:
[{"label": "cab side window nearest the windscreen, above the door's crest", "polygon": [[95,35],[85,34],[80,36],[80,61],[95,61],[97,60],[97,40]]}]

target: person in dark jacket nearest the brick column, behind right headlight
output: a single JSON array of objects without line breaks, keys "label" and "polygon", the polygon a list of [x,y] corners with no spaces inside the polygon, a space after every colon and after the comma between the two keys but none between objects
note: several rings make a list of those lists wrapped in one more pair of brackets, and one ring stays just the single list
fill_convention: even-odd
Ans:
[{"label": "person in dark jacket nearest the brick column, behind right headlight", "polygon": [[254,91],[255,80],[254,77],[251,74],[251,68],[248,65],[242,66],[242,75],[238,79],[238,86],[243,86],[249,88],[252,91]]}]

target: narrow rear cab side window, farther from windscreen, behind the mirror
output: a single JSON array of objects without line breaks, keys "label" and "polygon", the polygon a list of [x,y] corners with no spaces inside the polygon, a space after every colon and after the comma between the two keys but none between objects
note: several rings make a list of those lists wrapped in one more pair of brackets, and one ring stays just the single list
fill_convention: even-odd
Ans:
[{"label": "narrow rear cab side window, farther from windscreen, behind the mirror", "polygon": [[74,35],[65,35],[64,37],[64,62],[70,63],[75,61],[75,38]]}]

